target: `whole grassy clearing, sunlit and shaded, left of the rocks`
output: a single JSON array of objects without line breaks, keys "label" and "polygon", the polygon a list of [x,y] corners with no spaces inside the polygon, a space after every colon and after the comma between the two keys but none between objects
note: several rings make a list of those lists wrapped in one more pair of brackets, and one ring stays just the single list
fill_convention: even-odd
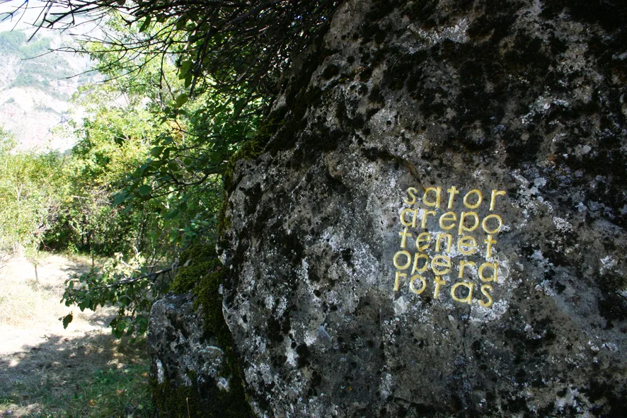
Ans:
[{"label": "whole grassy clearing, sunlit and shaded, left of the rocks", "polygon": [[[59,303],[63,281],[91,260],[26,260],[0,270],[0,418],[149,417],[145,344],[115,339],[110,311]],[[57,318],[73,310],[64,330]],[[8,412],[11,413],[8,413]]]}]

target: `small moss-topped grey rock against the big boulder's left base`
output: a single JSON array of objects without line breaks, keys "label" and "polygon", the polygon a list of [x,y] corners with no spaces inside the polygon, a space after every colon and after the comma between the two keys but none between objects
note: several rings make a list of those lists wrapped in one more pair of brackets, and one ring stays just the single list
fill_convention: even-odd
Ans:
[{"label": "small moss-topped grey rock against the big boulder's left base", "polygon": [[159,417],[251,417],[222,315],[222,264],[212,245],[180,256],[173,294],[150,315],[151,392]]}]

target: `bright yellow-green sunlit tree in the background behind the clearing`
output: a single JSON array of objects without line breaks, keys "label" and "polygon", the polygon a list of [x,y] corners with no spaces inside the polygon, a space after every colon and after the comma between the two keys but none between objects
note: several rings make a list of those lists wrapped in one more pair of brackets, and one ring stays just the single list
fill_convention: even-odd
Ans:
[{"label": "bright yellow-green sunlit tree in the background behind the clearing", "polygon": [[150,249],[151,227],[144,211],[112,207],[113,195],[126,184],[127,173],[144,158],[156,134],[150,112],[134,103],[113,106],[120,93],[109,86],[88,86],[76,97],[87,109],[77,129],[78,143],[64,166],[71,195],[62,204],[59,221],[47,233],[55,249],[112,256]]}]

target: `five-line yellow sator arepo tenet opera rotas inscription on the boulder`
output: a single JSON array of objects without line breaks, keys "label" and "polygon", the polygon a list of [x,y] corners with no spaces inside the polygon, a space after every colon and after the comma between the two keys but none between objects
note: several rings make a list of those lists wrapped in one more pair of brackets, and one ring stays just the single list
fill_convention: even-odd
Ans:
[{"label": "five-line yellow sator arepo tenet opera rotas inscription on the boulder", "polygon": [[[491,292],[493,284],[498,283],[498,264],[490,262],[490,259],[493,257],[494,246],[497,243],[495,236],[503,226],[502,217],[495,211],[499,198],[505,196],[506,192],[492,190],[489,202],[488,199],[484,199],[481,190],[470,190],[462,197],[461,191],[455,186],[445,191],[442,187],[425,187],[422,199],[415,187],[409,187],[406,192],[407,197],[403,198],[403,202],[410,207],[401,211],[400,222],[403,229],[398,233],[401,237],[400,249],[394,254],[392,260],[396,268],[394,291],[401,289],[401,284],[410,277],[408,283],[410,291],[414,294],[422,294],[427,289],[425,276],[427,273],[432,273],[433,297],[439,298],[442,287],[447,286],[447,274],[453,268],[451,257],[447,254],[455,249],[464,256],[477,256],[483,249],[485,262],[459,261],[457,265],[459,281],[451,286],[450,295],[456,302],[472,305],[475,301],[473,296],[481,291],[478,303],[484,307],[492,306]],[[460,211],[449,210],[454,208],[458,198],[463,208]],[[484,202],[485,205],[481,207]],[[423,207],[419,207],[420,204]],[[461,207],[461,204],[458,203],[456,206]],[[483,218],[475,211],[479,208],[484,209],[482,213],[486,215]],[[439,226],[439,231],[429,231],[432,225],[436,225],[436,228]],[[418,231],[412,231],[410,228]],[[483,231],[485,238],[477,240],[475,236],[470,235],[475,231]],[[414,241],[415,250],[412,248],[411,240]],[[455,245],[453,245],[454,241]],[[469,277],[471,274],[468,271],[471,269],[476,270],[481,286]],[[475,289],[476,287],[478,289]],[[459,288],[466,289],[465,296],[459,296]]]}]

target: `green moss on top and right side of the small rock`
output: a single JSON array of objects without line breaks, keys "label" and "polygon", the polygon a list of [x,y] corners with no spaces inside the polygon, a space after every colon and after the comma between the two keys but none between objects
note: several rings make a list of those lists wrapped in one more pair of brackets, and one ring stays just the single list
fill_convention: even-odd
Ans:
[{"label": "green moss on top and right side of the small rock", "polygon": [[181,294],[191,291],[194,308],[202,308],[203,325],[208,339],[214,339],[225,354],[222,377],[229,378],[229,390],[220,390],[215,382],[198,386],[194,371],[188,372],[191,386],[171,383],[151,383],[156,407],[161,417],[253,417],[246,401],[241,369],[234,351],[234,341],[222,315],[222,263],[213,245],[192,245],[180,255],[180,265],[172,291]]}]

